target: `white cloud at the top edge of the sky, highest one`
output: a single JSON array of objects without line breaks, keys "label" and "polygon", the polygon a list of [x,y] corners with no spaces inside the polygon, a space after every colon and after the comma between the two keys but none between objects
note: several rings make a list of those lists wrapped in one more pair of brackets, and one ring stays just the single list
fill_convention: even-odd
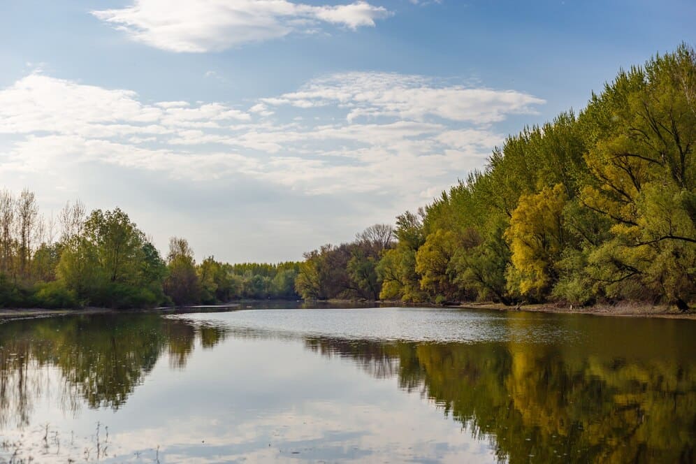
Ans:
[{"label": "white cloud at the top edge of the sky, highest one", "polygon": [[321,22],[349,29],[372,27],[391,13],[362,0],[338,6],[288,0],[135,0],[126,8],[96,10],[92,15],[155,48],[209,52],[312,31]]}]

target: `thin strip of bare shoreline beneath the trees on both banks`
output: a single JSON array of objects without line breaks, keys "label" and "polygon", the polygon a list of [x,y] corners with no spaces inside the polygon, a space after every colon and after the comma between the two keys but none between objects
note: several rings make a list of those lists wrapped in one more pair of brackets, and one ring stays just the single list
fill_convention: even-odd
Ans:
[{"label": "thin strip of bare shoreline beneath the trees on both banks", "polygon": [[[174,313],[186,314],[190,312],[221,312],[229,310],[231,307],[238,307],[245,303],[278,303],[288,300],[240,300],[221,305],[191,305],[181,307],[153,307],[143,309],[115,310],[106,307],[85,307],[82,309],[60,309],[49,310],[43,308],[0,308],[0,322],[8,319],[38,319],[41,317],[56,317],[80,314],[122,314],[133,312],[152,312],[152,313]],[[423,306],[423,307],[442,307],[430,303],[403,303],[395,301],[356,301],[356,300],[320,300],[321,304],[345,304],[345,305],[369,305],[380,306]],[[243,307],[243,306],[242,306]],[[650,305],[648,303],[622,302],[616,305],[598,304],[593,306],[574,306],[563,305],[560,303],[541,303],[525,304],[520,306],[504,305],[502,303],[460,303],[444,305],[444,307],[463,308],[470,310],[495,310],[510,312],[549,312],[556,314],[592,314],[595,316],[616,316],[616,317],[661,317],[667,319],[696,319],[696,312],[680,312],[674,306],[669,305]]]}]

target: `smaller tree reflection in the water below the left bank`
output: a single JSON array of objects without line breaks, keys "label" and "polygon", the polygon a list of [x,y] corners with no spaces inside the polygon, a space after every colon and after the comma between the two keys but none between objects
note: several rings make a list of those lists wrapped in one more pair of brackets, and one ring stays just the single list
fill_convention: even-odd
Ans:
[{"label": "smaller tree reflection in the water below the left bank", "polygon": [[[157,314],[55,317],[0,324],[0,430],[29,425],[34,399],[59,390],[60,407],[119,409],[164,352],[183,369],[196,340],[213,347],[226,329]],[[60,372],[52,384],[50,369]]]}]

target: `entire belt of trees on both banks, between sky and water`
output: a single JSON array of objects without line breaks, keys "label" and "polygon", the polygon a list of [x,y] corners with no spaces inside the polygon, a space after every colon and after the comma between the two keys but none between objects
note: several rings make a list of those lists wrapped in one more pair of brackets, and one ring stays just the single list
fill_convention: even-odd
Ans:
[{"label": "entire belt of trees on both banks, between sky and water", "polygon": [[696,52],[680,45],[621,70],[569,110],[525,127],[480,171],[396,226],[376,224],[304,261],[196,263],[166,256],[122,210],[57,217],[31,191],[0,192],[0,306],[142,307],[238,298],[414,303],[696,296]]}]

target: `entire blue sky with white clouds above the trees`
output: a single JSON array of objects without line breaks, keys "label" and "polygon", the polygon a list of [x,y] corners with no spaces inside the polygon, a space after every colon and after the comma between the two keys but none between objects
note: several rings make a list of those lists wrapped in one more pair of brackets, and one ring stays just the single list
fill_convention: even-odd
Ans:
[{"label": "entire blue sky with white clouds above the trees", "polygon": [[0,0],[0,188],[298,260],[696,43],[696,2]]}]

